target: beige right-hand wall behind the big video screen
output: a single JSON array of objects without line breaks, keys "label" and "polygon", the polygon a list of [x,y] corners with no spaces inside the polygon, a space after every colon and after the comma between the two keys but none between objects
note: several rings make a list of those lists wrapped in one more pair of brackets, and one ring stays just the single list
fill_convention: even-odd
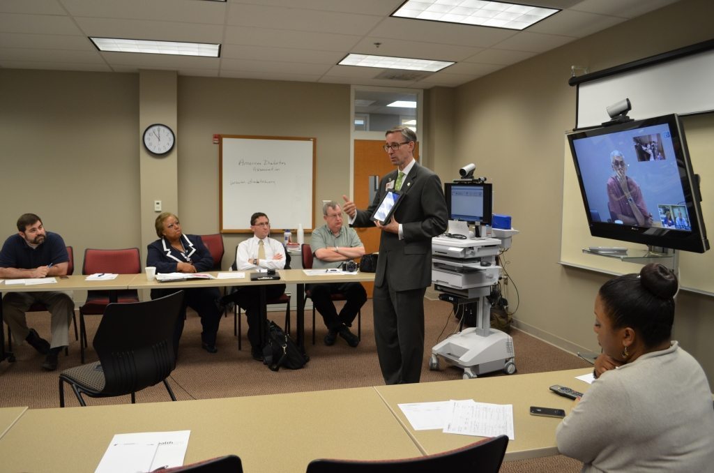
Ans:
[{"label": "beige right-hand wall behind the big video screen", "polygon": [[[708,0],[680,1],[457,89],[454,156],[474,156],[478,174],[494,184],[494,211],[513,216],[521,231],[506,253],[518,293],[509,284],[506,297],[511,309],[520,303],[515,317],[528,332],[573,351],[598,349],[593,299],[608,276],[558,264],[563,132],[575,125],[570,66],[598,71],[705,41],[712,14]],[[714,299],[680,294],[675,339],[703,364],[710,382],[712,334]]]}]

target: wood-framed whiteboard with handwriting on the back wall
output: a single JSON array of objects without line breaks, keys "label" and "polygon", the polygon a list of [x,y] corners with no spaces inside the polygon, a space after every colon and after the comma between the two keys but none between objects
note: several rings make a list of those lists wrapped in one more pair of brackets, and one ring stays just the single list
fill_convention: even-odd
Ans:
[{"label": "wood-framed whiteboard with handwriting on the back wall", "polygon": [[263,212],[271,229],[314,226],[315,138],[221,136],[221,233],[251,231]]}]

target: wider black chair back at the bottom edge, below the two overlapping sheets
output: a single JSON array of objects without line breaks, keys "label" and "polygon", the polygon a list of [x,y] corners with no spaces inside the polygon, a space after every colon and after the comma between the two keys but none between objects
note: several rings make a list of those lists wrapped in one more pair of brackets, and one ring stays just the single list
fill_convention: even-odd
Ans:
[{"label": "wider black chair back at the bottom edge, below the two overlapping sheets", "polygon": [[508,437],[483,439],[449,452],[396,460],[317,459],[307,473],[498,473],[508,447]]}]

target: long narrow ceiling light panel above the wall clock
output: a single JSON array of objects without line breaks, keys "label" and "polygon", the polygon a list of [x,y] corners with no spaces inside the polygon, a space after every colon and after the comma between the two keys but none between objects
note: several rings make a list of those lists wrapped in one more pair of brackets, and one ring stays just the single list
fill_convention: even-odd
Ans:
[{"label": "long narrow ceiling light panel above the wall clock", "polygon": [[220,44],[150,41],[148,39],[93,38],[91,36],[89,39],[99,51],[203,57],[218,57],[221,53]]}]

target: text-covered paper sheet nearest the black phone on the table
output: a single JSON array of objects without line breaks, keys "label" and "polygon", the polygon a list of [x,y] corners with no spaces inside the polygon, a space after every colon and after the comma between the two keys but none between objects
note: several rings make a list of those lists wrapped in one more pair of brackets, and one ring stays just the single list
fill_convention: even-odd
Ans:
[{"label": "text-covered paper sheet nearest the black phone on the table", "polygon": [[444,427],[446,434],[494,437],[506,434],[516,439],[513,431],[513,404],[488,404],[486,402],[451,401],[451,422]]}]

